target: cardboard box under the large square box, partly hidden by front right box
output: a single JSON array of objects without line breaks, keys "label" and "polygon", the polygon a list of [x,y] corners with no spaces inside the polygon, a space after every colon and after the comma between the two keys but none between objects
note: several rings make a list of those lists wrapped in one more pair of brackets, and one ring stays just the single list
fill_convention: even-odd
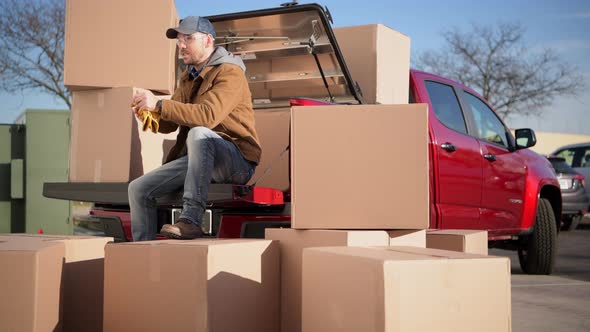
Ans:
[{"label": "cardboard box under the large square box, partly hidden by front right box", "polygon": [[385,231],[296,230],[267,228],[265,238],[281,248],[281,331],[301,331],[301,268],[304,248],[323,246],[383,246]]}]

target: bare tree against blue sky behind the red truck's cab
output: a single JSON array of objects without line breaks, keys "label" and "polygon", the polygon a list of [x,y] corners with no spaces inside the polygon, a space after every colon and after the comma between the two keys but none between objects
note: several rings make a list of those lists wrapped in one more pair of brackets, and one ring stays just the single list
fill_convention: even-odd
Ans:
[{"label": "bare tree against blue sky behind the red truck's cab", "polygon": [[502,118],[539,115],[555,97],[578,94],[584,81],[553,50],[527,48],[523,36],[519,24],[454,28],[443,33],[443,50],[423,52],[414,65],[479,90]]}]

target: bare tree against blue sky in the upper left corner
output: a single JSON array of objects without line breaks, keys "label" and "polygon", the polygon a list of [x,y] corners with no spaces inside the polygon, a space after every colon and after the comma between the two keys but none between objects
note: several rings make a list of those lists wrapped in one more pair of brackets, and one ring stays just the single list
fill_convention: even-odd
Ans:
[{"label": "bare tree against blue sky in the upper left corner", "polygon": [[63,100],[64,0],[0,1],[0,89],[43,91]]}]

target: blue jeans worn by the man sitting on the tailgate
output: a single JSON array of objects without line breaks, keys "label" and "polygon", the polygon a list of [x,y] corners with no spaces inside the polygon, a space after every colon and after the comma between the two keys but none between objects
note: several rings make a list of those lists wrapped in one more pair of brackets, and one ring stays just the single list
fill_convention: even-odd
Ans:
[{"label": "blue jeans worn by the man sitting on the tailgate", "polygon": [[194,127],[188,132],[186,149],[187,155],[129,183],[134,241],[156,238],[157,197],[180,191],[184,187],[180,218],[200,225],[207,204],[209,184],[246,184],[256,168],[254,163],[244,159],[233,143],[205,127]]}]

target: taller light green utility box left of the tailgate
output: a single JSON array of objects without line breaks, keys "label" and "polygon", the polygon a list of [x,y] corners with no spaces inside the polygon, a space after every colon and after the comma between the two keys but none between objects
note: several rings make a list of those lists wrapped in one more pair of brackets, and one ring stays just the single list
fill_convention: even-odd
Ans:
[{"label": "taller light green utility box left of the tailgate", "polygon": [[43,183],[68,182],[70,112],[27,110],[26,232],[72,234],[70,202],[43,197]]}]

